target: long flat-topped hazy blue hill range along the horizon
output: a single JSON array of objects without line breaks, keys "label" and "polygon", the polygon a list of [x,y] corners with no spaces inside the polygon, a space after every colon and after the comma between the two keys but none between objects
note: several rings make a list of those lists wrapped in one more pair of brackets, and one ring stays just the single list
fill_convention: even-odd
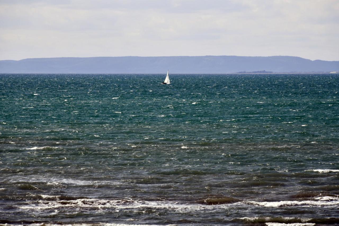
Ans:
[{"label": "long flat-topped hazy blue hill range along the horizon", "polygon": [[195,73],[331,72],[339,61],[292,56],[61,57],[0,60],[0,73]]}]

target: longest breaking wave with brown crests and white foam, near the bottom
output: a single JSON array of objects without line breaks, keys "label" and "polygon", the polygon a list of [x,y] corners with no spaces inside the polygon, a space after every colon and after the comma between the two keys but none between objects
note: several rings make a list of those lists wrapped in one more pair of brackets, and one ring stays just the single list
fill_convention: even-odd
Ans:
[{"label": "longest breaking wave with brown crests and white foam, near the bottom", "polygon": [[184,203],[175,201],[144,201],[132,199],[105,200],[91,199],[87,197],[74,196],[54,196],[45,194],[30,194],[34,201],[28,201],[23,206],[17,206],[20,209],[30,209],[39,211],[44,209],[55,208],[113,208],[119,209],[139,209],[139,208],[154,208],[167,209],[177,212],[194,212],[201,210],[220,210],[228,209],[230,206],[246,206],[257,205],[264,207],[281,207],[281,206],[339,206],[339,197],[323,196],[316,197],[313,200],[307,201],[279,201],[279,202],[255,202],[241,201],[233,197],[209,197],[198,200],[195,203]]}]

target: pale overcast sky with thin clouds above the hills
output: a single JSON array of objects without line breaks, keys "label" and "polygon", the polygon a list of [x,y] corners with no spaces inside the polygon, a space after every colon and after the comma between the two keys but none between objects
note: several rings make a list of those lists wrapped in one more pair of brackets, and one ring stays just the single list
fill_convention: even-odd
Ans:
[{"label": "pale overcast sky with thin clouds above the hills", "polygon": [[0,60],[299,56],[339,60],[339,0],[0,0]]}]

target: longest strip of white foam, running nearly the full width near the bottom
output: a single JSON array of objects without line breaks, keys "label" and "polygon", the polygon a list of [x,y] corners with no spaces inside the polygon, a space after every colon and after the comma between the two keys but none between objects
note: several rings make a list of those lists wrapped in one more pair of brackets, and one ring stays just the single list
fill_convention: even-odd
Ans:
[{"label": "longest strip of white foam, running nearly the full width near the bottom", "polygon": [[[102,182],[100,183],[102,184]],[[54,198],[59,199],[59,196],[41,195],[42,198]],[[332,197],[333,198],[333,197]],[[334,197],[335,198],[335,197]],[[57,201],[44,201],[35,200],[27,202],[24,206],[16,206],[20,209],[29,211],[41,211],[45,209],[57,209],[57,208],[86,208],[86,209],[114,209],[116,211],[124,210],[137,210],[137,209],[166,209],[174,212],[201,212],[201,211],[223,211],[234,206],[244,205],[259,205],[265,207],[280,207],[280,206],[339,206],[339,200],[327,200],[329,198],[319,197],[318,201],[280,201],[280,202],[254,202],[254,201],[242,201],[230,204],[220,205],[203,205],[196,203],[179,203],[173,201],[140,201],[131,199],[122,200],[104,200],[104,199],[77,199],[77,200],[57,200]],[[305,222],[305,221],[302,221]],[[307,221],[306,221],[307,222]],[[306,223],[305,222],[305,223]]]}]

